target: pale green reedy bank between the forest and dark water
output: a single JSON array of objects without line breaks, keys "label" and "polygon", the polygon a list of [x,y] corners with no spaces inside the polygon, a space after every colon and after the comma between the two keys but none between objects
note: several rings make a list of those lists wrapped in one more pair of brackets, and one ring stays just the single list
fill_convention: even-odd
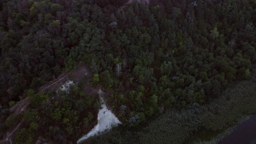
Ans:
[{"label": "pale green reedy bank between the forest and dark water", "polygon": [[137,131],[120,128],[89,141],[97,144],[217,143],[240,123],[241,118],[256,113],[255,94],[253,79],[236,82],[210,104],[186,110],[168,110],[144,128],[136,128]]}]

